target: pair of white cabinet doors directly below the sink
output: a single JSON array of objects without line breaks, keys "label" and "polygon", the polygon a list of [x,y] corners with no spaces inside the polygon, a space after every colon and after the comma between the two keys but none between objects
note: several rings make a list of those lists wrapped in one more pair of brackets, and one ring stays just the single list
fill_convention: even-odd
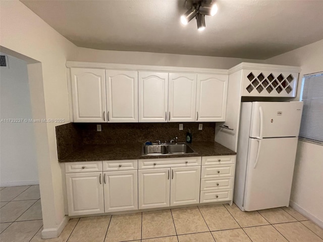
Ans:
[{"label": "pair of white cabinet doors directly below the sink", "polygon": [[138,170],[139,209],[199,203],[200,166]]}]

